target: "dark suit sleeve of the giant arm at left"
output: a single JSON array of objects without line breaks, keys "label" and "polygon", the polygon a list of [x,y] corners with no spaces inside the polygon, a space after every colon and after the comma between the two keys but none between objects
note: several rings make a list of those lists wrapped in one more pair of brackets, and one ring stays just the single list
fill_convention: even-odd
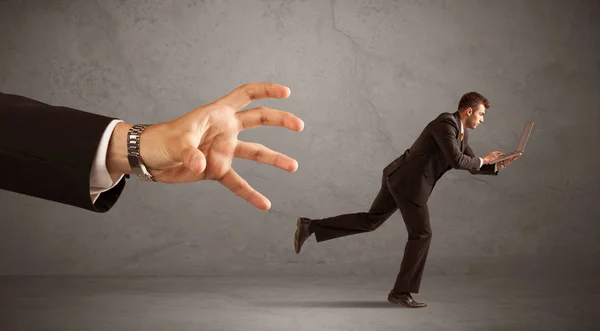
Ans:
[{"label": "dark suit sleeve of the giant arm at left", "polygon": [[90,172],[113,118],[0,93],[0,189],[96,212],[109,210],[125,180],[93,204]]}]

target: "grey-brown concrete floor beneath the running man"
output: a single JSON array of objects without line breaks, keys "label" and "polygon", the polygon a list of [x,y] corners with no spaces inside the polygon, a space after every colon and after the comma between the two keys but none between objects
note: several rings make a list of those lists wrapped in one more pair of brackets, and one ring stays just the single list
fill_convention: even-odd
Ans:
[{"label": "grey-brown concrete floor beneath the running man", "polygon": [[600,330],[588,279],[430,277],[389,304],[389,279],[1,277],[0,330]]}]

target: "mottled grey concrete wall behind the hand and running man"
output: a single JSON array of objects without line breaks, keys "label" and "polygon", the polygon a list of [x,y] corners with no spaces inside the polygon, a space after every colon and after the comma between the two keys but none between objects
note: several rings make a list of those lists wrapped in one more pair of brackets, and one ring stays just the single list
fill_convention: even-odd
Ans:
[{"label": "mottled grey concrete wall behind the hand and running man", "polygon": [[477,154],[535,128],[500,176],[438,183],[427,272],[578,272],[600,253],[599,14],[558,0],[0,1],[3,92],[152,123],[274,81],[291,97],[251,106],[306,124],[240,136],[299,161],[293,174],[235,161],[268,212],[214,182],[131,180],[106,214],[2,191],[0,274],[395,272],[399,213],[299,256],[295,219],[368,209],[382,168],[473,90],[492,103]]}]

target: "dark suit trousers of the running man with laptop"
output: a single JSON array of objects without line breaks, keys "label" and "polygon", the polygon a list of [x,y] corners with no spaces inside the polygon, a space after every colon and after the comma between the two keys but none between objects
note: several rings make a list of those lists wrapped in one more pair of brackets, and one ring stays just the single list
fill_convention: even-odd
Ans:
[{"label": "dark suit trousers of the running man with laptop", "polygon": [[408,231],[408,241],[394,290],[418,293],[431,242],[429,209],[427,205],[419,206],[394,193],[393,188],[390,190],[385,174],[381,180],[381,189],[368,212],[313,219],[312,229],[317,242],[370,232],[381,226],[398,209]]}]

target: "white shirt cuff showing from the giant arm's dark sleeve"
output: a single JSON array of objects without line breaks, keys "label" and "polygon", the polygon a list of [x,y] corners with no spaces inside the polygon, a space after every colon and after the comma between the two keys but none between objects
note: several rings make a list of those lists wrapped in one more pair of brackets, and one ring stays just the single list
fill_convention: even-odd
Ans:
[{"label": "white shirt cuff showing from the giant arm's dark sleeve", "polygon": [[96,157],[94,158],[94,163],[92,164],[92,170],[90,172],[90,198],[92,199],[92,203],[96,203],[100,193],[115,187],[123,178],[123,174],[111,176],[106,168],[108,143],[110,142],[110,137],[112,136],[115,126],[117,126],[119,122],[123,121],[113,120],[108,124],[100,139],[100,144],[98,144]]}]

